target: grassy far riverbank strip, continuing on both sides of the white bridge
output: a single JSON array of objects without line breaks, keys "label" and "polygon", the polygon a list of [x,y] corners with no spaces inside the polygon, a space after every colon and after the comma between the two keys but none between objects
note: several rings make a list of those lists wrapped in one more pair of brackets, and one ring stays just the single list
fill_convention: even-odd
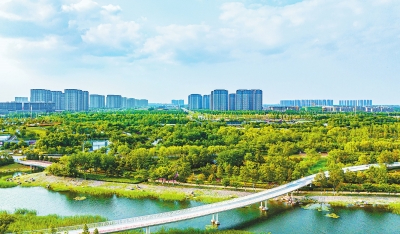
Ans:
[{"label": "grassy far riverbank strip, continuing on both sides of the white bridge", "polygon": [[[221,187],[180,186],[171,184],[128,184],[105,182],[84,179],[72,179],[46,175],[45,172],[27,174],[20,177],[24,182],[23,187],[40,186],[56,192],[73,192],[78,194],[76,200],[86,199],[85,195],[113,196],[131,199],[161,199],[164,201],[195,200],[203,203],[215,203],[249,195],[252,192],[229,190]],[[250,191],[250,189],[249,189]],[[258,192],[258,191],[257,191]],[[275,200],[284,200],[285,196]],[[356,192],[321,192],[298,191],[294,197],[304,203],[329,203],[336,207],[351,206],[382,206],[388,211],[400,214],[400,197],[397,194],[388,193],[356,193]]]}]

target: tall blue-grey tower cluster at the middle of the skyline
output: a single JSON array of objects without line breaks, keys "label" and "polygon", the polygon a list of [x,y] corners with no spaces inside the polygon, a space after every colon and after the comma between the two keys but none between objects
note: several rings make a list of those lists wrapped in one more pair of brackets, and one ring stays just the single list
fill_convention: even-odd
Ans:
[{"label": "tall blue-grey tower cluster at the middle of the skyline", "polygon": [[229,93],[216,89],[210,95],[190,94],[189,110],[262,110],[263,92],[260,89],[239,89]]}]

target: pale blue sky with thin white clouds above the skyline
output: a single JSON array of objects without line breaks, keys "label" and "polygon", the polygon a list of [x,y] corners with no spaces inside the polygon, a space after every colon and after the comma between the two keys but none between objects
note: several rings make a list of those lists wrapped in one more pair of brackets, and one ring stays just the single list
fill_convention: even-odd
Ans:
[{"label": "pale blue sky with thin white clouds above the skyline", "polygon": [[1,0],[0,101],[214,89],[400,104],[398,0]]}]

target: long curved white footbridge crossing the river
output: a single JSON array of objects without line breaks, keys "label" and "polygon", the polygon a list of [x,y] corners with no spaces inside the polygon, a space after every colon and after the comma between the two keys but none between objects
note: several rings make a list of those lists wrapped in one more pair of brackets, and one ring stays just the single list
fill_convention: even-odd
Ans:
[{"label": "long curved white footbridge crossing the river", "polygon": [[[343,168],[344,171],[363,171],[367,170],[371,166],[379,166],[378,164],[370,164],[370,165],[361,165],[361,166],[353,166]],[[388,169],[392,168],[400,168],[400,162],[396,162],[393,164],[386,165]],[[328,172],[325,172],[327,176],[329,176]],[[124,230],[131,230],[137,228],[146,228],[146,233],[150,233],[150,227],[163,225],[167,223],[178,222],[187,219],[193,219],[197,217],[202,217],[206,215],[216,215],[218,219],[218,213],[223,211],[229,211],[236,208],[241,208],[245,206],[249,206],[251,204],[267,201],[268,199],[275,198],[290,192],[293,192],[301,187],[305,187],[311,184],[314,180],[314,175],[310,175],[296,181],[290,182],[285,185],[281,185],[279,187],[268,189],[263,192],[251,194],[245,197],[235,198],[228,201],[218,202],[209,205],[203,205],[188,209],[164,212],[153,215],[145,215],[139,217],[133,217],[128,219],[100,222],[100,223],[92,223],[88,224],[88,228],[91,232],[94,231],[95,228],[98,229],[100,233],[112,233]],[[83,225],[78,226],[70,226],[70,227],[61,227],[56,229],[57,233],[82,233]],[[48,230],[47,230],[48,231]],[[37,230],[34,232],[43,232],[46,230]]]}]

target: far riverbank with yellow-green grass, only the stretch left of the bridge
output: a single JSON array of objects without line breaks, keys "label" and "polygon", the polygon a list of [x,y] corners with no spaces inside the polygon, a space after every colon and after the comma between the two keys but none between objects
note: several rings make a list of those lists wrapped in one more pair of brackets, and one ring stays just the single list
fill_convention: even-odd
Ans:
[{"label": "far riverbank with yellow-green grass, only the stretch left of the bridge", "polygon": [[249,195],[249,192],[219,190],[211,188],[188,188],[174,185],[127,184],[84,180],[80,178],[57,177],[45,172],[14,178],[21,186],[41,186],[53,191],[71,191],[89,195],[117,195],[127,198],[153,198],[169,201],[196,200],[214,203],[234,197]]}]

